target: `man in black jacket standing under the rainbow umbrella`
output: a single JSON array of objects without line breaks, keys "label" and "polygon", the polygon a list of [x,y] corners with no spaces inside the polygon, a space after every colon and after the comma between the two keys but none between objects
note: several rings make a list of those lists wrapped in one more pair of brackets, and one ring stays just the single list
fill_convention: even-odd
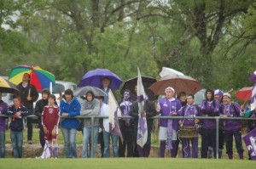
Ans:
[{"label": "man in black jacket standing under the rainbow umbrella", "polygon": [[[38,91],[34,85],[30,83],[31,77],[28,73],[25,73],[22,78],[22,82],[17,86],[20,93],[20,103],[23,104],[28,110],[33,113],[33,102],[38,99]],[[32,118],[28,118],[27,124],[27,143],[32,144]]]}]

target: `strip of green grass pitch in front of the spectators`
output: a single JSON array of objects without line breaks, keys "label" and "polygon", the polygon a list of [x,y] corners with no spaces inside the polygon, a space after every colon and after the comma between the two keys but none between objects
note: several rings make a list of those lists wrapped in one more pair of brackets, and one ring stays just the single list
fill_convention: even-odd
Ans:
[{"label": "strip of green grass pitch in front of the spectators", "polygon": [[116,159],[3,159],[0,168],[3,169],[236,169],[254,168],[255,161],[203,160],[203,159],[160,159],[160,158],[116,158]]}]

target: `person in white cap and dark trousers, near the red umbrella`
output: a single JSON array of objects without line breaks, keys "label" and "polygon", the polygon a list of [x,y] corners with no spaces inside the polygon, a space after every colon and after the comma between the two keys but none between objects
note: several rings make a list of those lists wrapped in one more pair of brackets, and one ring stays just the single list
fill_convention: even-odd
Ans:
[{"label": "person in white cap and dark trousers, near the red umbrella", "polygon": [[239,154],[239,159],[243,160],[243,148],[241,144],[241,123],[237,120],[229,120],[229,117],[240,117],[240,105],[236,102],[231,102],[230,93],[223,94],[223,106],[221,112],[226,120],[224,120],[224,138],[229,159],[233,159],[233,137],[236,141],[236,150]]}]

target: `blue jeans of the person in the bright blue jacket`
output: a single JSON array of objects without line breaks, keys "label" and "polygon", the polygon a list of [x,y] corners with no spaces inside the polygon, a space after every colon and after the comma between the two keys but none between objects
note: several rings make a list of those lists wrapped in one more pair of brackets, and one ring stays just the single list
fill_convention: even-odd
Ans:
[{"label": "blue jeans of the person in the bright blue jacket", "polygon": [[75,128],[61,128],[63,138],[65,141],[65,154],[67,158],[77,158],[77,145],[76,145],[76,134],[77,129]]}]

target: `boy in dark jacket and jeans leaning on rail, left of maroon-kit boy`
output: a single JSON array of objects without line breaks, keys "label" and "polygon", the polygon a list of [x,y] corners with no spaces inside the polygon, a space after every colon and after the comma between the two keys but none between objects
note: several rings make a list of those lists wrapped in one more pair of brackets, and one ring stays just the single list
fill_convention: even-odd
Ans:
[{"label": "boy in dark jacket and jeans leaning on rail, left of maroon-kit boy", "polygon": [[9,124],[11,143],[14,149],[14,157],[22,157],[22,144],[23,144],[23,129],[24,122],[22,116],[30,115],[25,106],[20,104],[20,96],[14,95],[14,105],[10,106],[6,112],[6,115],[14,115],[12,121]]}]

